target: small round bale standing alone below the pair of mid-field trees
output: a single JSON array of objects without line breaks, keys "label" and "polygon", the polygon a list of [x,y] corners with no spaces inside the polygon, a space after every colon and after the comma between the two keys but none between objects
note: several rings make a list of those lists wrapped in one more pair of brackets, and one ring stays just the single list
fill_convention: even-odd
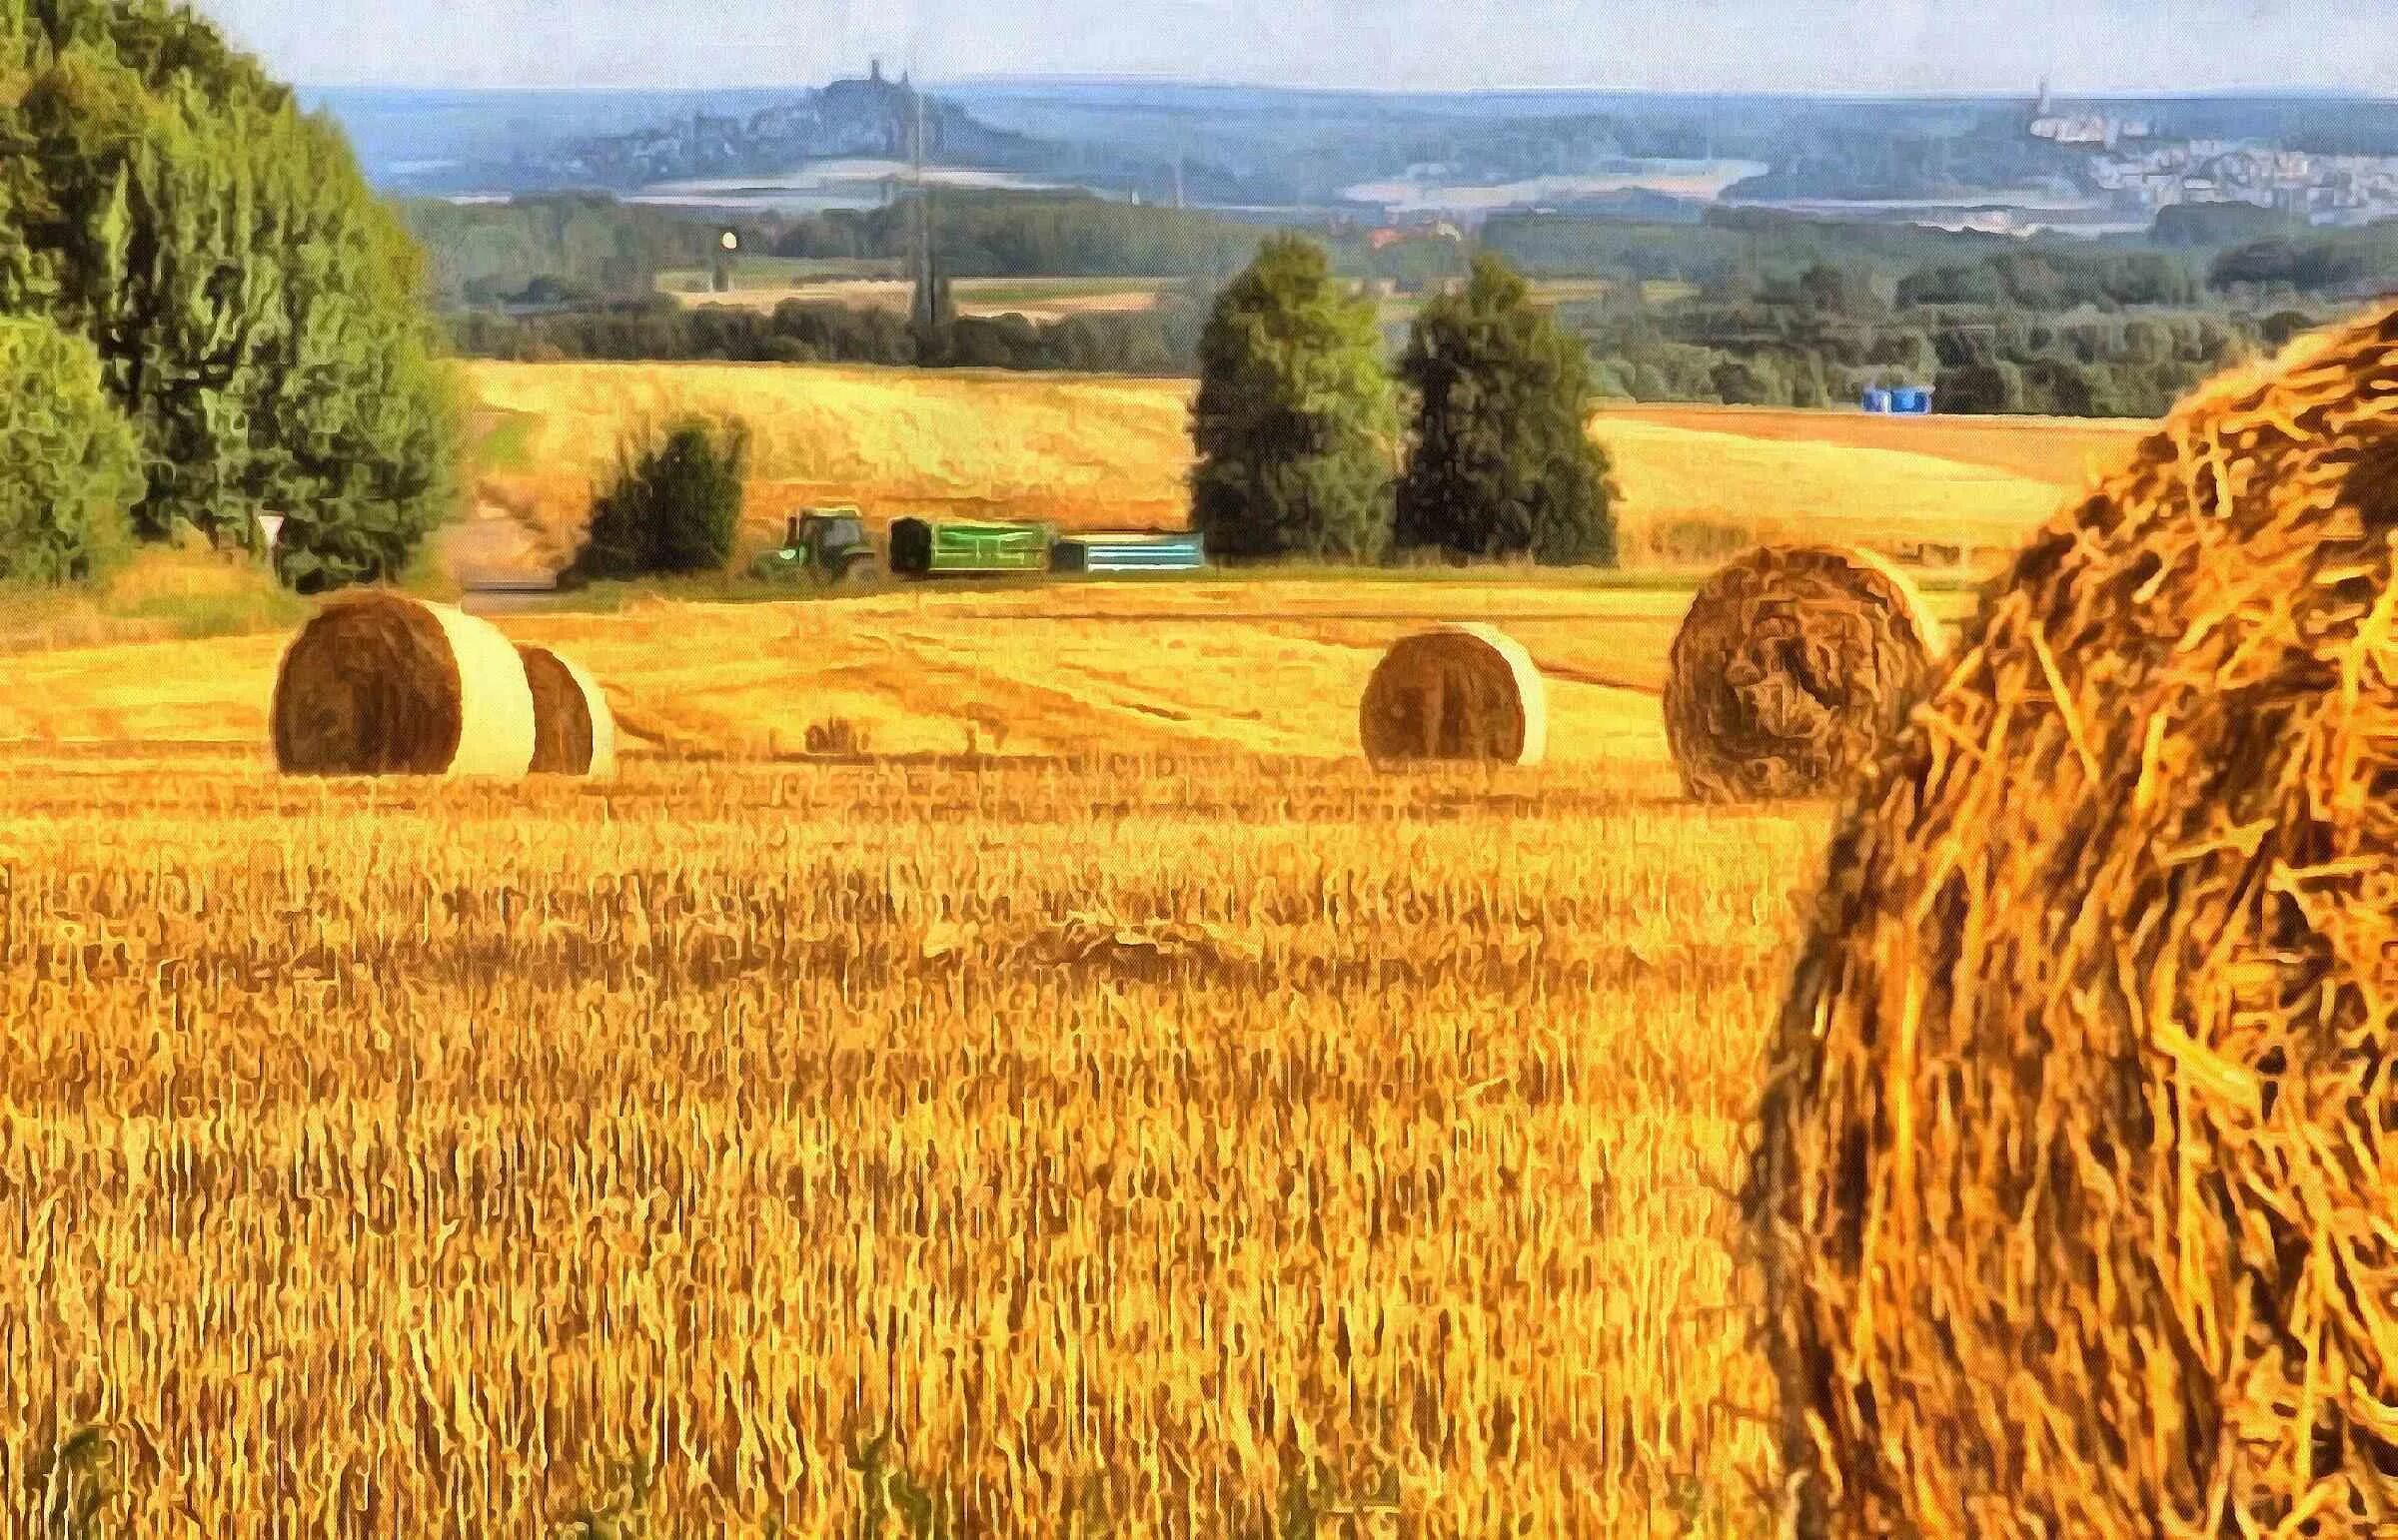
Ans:
[{"label": "small round bale standing alone below the pair of mid-field trees", "polygon": [[1492,626],[1400,638],[1364,684],[1357,739],[1376,765],[1489,760],[1537,765],[1549,751],[1549,696],[1532,657]]}]

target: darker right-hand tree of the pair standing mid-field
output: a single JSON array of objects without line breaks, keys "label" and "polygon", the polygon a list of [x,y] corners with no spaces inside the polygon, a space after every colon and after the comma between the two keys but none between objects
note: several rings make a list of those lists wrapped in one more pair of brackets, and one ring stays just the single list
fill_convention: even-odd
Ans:
[{"label": "darker right-hand tree of the pair standing mid-field", "polygon": [[1415,434],[1398,545],[1458,557],[1616,559],[1607,451],[1585,432],[1590,357],[1499,257],[1424,305],[1398,365]]}]

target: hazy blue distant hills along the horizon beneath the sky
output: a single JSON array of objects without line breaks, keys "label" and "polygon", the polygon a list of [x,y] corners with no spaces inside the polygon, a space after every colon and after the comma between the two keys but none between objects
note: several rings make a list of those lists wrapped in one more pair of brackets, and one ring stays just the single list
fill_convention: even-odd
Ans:
[{"label": "hazy blue distant hills along the horizon beneath the sky", "polygon": [[[918,94],[870,70],[820,89],[326,91],[376,185],[403,194],[633,192],[659,182],[779,178],[808,163],[904,158]],[[966,82],[923,94],[935,166],[1005,173],[1245,218],[1352,213],[1357,190],[1439,185],[1453,211],[1580,201],[1549,187],[1626,187],[1743,204],[1916,204],[2031,211],[2031,223],[2146,228],[2165,180],[2261,206],[2309,201],[2360,223],[2398,209],[2398,103],[2355,96],[2057,101],[1705,96],[1640,91],[1369,94],[1173,82]],[[2050,132],[2036,132],[2041,122]],[[2122,146],[2108,122],[2139,125]],[[626,130],[623,125],[638,125]],[[2098,137],[2086,125],[2101,125]],[[2180,161],[2137,163],[2180,146]],[[2213,149],[2204,149],[2213,146]],[[2223,146],[2257,154],[2223,168]],[[2273,151],[2364,156],[2290,187]],[[1758,166],[1729,187],[1710,168]],[[1537,185],[1535,192],[1511,192]],[[2300,197],[2304,194],[2304,197]],[[688,201],[688,199],[686,199]],[[1400,199],[1405,206],[1405,199]],[[1587,204],[1607,218],[1688,221],[1655,199]],[[2069,216],[2069,218],[2067,218]],[[2103,216],[2103,218],[2101,218]],[[2103,233],[2103,230],[2093,230]]]}]

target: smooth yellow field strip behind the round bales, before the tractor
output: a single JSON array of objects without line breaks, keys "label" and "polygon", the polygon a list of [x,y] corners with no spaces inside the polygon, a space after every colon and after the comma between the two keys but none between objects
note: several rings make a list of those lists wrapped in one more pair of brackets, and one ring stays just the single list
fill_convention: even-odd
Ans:
[{"label": "smooth yellow field strip behind the round bales, before the tractor", "polygon": [[[638,600],[511,614],[607,681],[650,746],[796,753],[832,717],[885,753],[1343,758],[1381,650],[1432,619],[1506,626],[1552,674],[1552,756],[1664,765],[1655,696],[1688,588],[1240,578],[897,588],[820,604]],[[1969,595],[1933,595],[1947,619]],[[233,741],[264,753],[283,636],[12,660],[0,739]]]}]

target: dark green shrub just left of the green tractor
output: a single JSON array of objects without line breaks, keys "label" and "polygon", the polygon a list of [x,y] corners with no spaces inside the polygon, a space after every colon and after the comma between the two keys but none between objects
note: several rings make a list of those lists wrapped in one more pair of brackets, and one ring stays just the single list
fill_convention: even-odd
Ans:
[{"label": "dark green shrub just left of the green tractor", "polygon": [[633,434],[616,451],[616,480],[592,504],[592,528],[576,559],[585,578],[717,571],[734,554],[748,425],[679,417],[659,434]]}]

